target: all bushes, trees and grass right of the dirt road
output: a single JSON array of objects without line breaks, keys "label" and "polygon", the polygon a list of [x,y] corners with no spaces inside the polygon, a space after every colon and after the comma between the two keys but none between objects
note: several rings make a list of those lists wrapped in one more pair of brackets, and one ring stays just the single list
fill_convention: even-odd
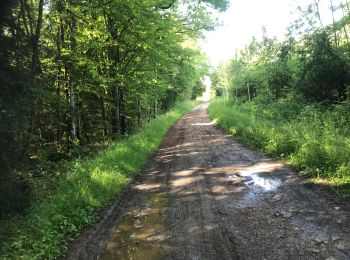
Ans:
[{"label": "all bushes, trees and grass right of the dirt road", "polygon": [[[252,39],[212,71],[210,116],[245,144],[350,196],[349,3],[299,8],[284,41]],[[338,17],[336,19],[335,17]]]}]

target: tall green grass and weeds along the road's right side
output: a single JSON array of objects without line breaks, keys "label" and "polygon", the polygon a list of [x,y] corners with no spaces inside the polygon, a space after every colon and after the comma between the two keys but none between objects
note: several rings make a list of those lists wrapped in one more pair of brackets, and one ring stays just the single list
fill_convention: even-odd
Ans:
[{"label": "tall green grass and weeds along the road's right side", "polygon": [[350,197],[349,108],[350,103],[326,108],[288,99],[250,103],[217,98],[209,115],[242,143]]}]

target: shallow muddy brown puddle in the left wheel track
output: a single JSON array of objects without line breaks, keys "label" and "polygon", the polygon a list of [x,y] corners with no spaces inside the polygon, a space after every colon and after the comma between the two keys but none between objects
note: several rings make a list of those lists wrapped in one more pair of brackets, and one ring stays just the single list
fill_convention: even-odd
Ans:
[{"label": "shallow muddy brown puddle in the left wheel track", "polygon": [[121,218],[99,259],[159,259],[165,254],[157,237],[165,224],[164,208],[169,203],[166,193],[150,196],[147,209]]}]

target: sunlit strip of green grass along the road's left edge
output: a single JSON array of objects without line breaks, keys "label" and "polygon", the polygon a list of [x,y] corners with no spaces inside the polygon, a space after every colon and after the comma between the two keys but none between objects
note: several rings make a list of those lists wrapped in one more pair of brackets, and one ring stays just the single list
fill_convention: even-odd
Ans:
[{"label": "sunlit strip of green grass along the road's left edge", "polygon": [[57,190],[13,219],[12,233],[2,245],[1,259],[53,259],[92,223],[99,209],[118,196],[144,166],[168,128],[194,102],[179,103],[134,135],[111,145],[95,158],[77,160]]}]

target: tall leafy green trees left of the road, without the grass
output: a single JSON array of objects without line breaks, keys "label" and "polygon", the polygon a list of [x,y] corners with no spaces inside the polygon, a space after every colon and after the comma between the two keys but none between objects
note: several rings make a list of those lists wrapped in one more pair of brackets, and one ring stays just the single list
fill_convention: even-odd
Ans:
[{"label": "tall leafy green trees left of the road, without the grass", "polygon": [[227,5],[1,1],[0,217],[37,199],[37,187],[56,178],[51,163],[85,156],[200,95],[208,66],[197,40],[216,25],[212,8]]}]

